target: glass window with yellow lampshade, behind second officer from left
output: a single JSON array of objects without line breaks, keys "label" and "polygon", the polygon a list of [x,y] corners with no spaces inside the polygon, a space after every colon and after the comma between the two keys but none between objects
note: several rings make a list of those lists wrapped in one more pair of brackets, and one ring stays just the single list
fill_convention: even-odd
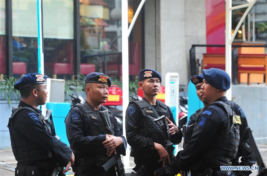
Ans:
[{"label": "glass window with yellow lampshade, behind second officer from left", "polygon": [[121,1],[80,0],[80,73],[121,76]]}]

